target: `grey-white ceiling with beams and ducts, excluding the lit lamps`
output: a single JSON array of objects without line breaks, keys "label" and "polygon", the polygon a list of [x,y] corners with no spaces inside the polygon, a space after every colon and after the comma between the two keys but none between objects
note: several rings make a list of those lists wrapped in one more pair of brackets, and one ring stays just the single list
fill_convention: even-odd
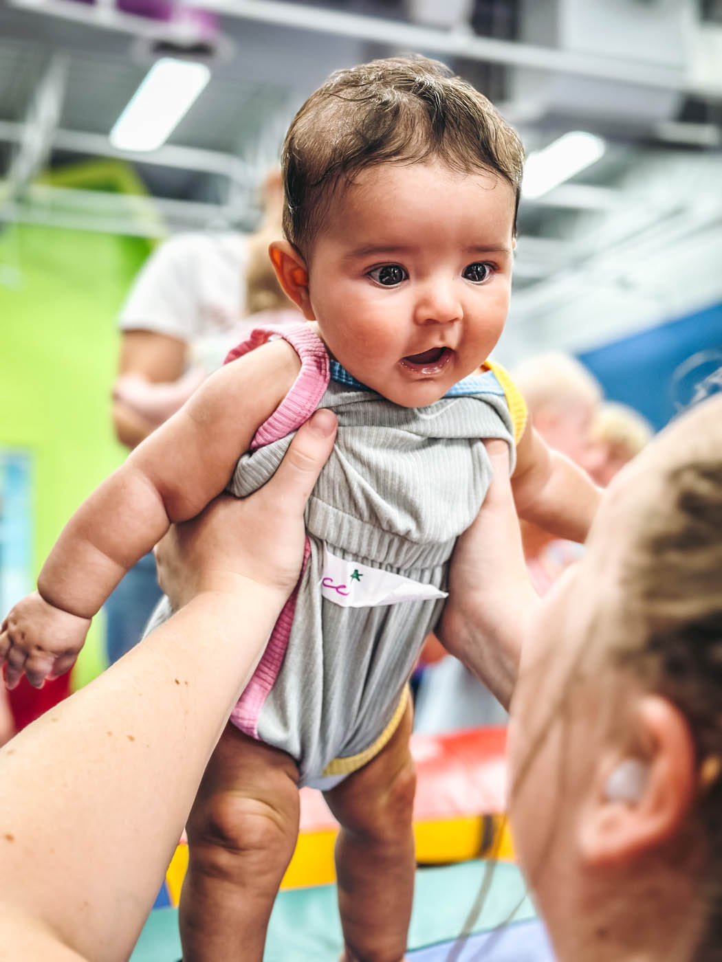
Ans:
[{"label": "grey-white ceiling with beams and ducts, excluding the lit lamps", "polygon": [[[165,146],[118,154],[118,114],[178,46],[211,82]],[[722,0],[5,0],[0,221],[251,228],[308,93],[332,69],[411,50],[487,93],[528,152],[568,130],[606,139],[595,165],[522,201],[509,360],[722,301]],[[149,199],[91,178],[70,189],[63,171],[89,158],[132,165]]]}]

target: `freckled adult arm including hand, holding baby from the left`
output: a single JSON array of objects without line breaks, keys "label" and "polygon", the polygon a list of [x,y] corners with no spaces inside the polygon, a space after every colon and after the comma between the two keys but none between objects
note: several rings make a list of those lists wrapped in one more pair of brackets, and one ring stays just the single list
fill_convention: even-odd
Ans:
[{"label": "freckled adult arm including hand, holding baby from the left", "polygon": [[[208,757],[297,581],[306,498],[335,418],[317,412],[245,500],[165,547],[188,603],[0,750],[0,954],[127,959]],[[184,565],[187,568],[184,568]]]}]

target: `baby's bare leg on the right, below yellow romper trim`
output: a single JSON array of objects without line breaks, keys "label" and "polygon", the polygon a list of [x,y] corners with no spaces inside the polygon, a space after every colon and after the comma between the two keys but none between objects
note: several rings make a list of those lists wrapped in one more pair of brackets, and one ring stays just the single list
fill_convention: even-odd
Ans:
[{"label": "baby's bare leg on the right, below yellow romper trim", "polygon": [[336,873],[346,962],[400,962],[406,949],[416,867],[412,719],[409,702],[387,746],[324,793],[342,826]]}]

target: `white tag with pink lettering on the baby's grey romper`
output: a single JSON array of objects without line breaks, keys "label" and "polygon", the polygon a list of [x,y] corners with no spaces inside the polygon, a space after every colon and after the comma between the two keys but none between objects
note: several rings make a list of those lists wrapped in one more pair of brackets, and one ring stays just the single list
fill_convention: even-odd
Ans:
[{"label": "white tag with pink lettering on the baby's grey romper", "polygon": [[376,608],[400,601],[425,601],[447,597],[433,585],[423,585],[401,574],[370,568],[331,554],[323,546],[321,594],[342,608]]}]

